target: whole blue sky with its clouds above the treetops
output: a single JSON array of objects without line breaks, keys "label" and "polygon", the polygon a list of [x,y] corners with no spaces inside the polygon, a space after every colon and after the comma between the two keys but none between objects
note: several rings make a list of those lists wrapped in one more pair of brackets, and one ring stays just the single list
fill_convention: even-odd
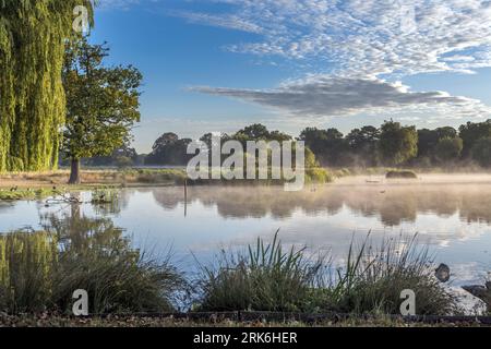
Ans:
[{"label": "whole blue sky with its clouds above the treetops", "polygon": [[262,122],[298,135],[491,116],[491,2],[101,0],[92,41],[144,74],[134,146]]}]

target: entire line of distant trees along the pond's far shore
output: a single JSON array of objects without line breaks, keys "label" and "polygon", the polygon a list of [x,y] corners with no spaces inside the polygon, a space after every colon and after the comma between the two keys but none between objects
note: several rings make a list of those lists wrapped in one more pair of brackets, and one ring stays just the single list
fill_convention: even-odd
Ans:
[{"label": "entire line of distant trees along the pond's far shore", "polygon": [[[223,133],[221,142],[247,141],[295,141],[280,131],[270,131],[263,124],[252,124],[233,134]],[[330,167],[376,166],[455,166],[477,164],[491,167],[491,120],[467,122],[457,129],[451,127],[434,130],[403,125],[393,120],[380,128],[372,125],[351,130],[343,134],[337,129],[304,129],[297,140],[304,141],[316,161]],[[212,134],[200,137],[208,148]],[[194,156],[187,154],[191,139],[180,139],[176,133],[159,136],[148,155],[137,155],[132,148],[118,148],[112,155],[85,160],[99,166],[185,166]]]}]

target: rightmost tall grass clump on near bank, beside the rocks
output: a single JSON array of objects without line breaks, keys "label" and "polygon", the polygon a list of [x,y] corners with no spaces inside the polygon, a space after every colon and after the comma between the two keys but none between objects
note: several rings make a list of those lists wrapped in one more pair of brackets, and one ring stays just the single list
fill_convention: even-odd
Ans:
[{"label": "rightmost tall grass clump on near bank, beside the rocks", "polygon": [[379,249],[369,239],[348,252],[346,265],[338,269],[330,306],[333,310],[367,314],[400,314],[400,293],[414,290],[418,315],[448,315],[457,308],[452,296],[434,277],[427,246],[411,239],[384,239]]}]

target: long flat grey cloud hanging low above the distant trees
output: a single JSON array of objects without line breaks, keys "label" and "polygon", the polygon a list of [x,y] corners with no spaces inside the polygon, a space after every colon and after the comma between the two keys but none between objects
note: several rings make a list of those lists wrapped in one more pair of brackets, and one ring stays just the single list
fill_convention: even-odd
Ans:
[{"label": "long flat grey cloud hanging low above the distant trees", "polygon": [[315,75],[289,82],[278,88],[240,89],[224,87],[191,87],[191,91],[238,98],[279,109],[292,116],[335,117],[359,112],[398,111],[411,108],[433,108],[453,118],[469,113],[486,113],[479,100],[450,96],[444,92],[410,92],[400,83],[380,79],[355,79]]}]

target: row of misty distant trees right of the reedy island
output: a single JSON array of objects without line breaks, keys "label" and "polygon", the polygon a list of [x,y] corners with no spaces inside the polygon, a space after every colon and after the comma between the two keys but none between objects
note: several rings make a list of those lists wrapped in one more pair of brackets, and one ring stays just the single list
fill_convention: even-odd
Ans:
[{"label": "row of misty distant trees right of the reedy island", "polygon": [[351,130],[344,135],[336,129],[308,128],[300,140],[323,166],[452,166],[477,163],[491,167],[491,120],[467,122],[458,130],[405,127],[385,121]]}]

